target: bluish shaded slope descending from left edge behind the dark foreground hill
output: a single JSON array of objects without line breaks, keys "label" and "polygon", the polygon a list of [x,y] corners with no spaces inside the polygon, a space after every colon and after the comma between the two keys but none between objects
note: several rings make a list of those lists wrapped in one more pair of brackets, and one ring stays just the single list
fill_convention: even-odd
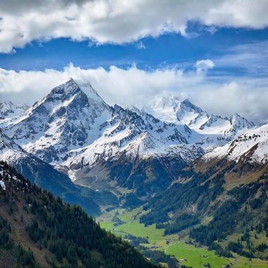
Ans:
[{"label": "bluish shaded slope descending from left edge behind the dark foreground hill", "polygon": [[99,213],[99,205],[116,205],[116,198],[106,191],[74,185],[65,174],[41,159],[25,152],[19,145],[0,132],[0,159],[8,162],[32,183],[59,195],[66,202],[81,205],[89,214]]}]

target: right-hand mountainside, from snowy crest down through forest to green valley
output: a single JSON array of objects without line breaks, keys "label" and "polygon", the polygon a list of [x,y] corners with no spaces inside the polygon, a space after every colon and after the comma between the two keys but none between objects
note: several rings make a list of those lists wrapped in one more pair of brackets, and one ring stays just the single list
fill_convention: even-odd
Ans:
[{"label": "right-hand mountainside, from snowy crest down through forest to green valley", "polygon": [[[231,250],[267,257],[267,130],[267,125],[248,130],[185,167],[167,190],[145,205],[150,211],[141,221],[157,223],[165,233],[187,229],[190,238],[226,256]],[[247,238],[240,238],[243,233]],[[237,237],[247,242],[233,247]],[[255,248],[260,243],[267,244],[263,250]]]}]

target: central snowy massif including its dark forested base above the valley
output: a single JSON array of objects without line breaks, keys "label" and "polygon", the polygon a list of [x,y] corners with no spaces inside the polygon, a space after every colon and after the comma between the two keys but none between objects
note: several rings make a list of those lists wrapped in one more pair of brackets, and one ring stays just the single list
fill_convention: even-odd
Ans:
[{"label": "central snowy massif including its dark forested base above the valley", "polygon": [[[195,159],[217,157],[245,131],[259,132],[238,114],[209,114],[173,96],[155,97],[142,109],[110,106],[90,83],[72,78],[31,107],[4,102],[0,108],[4,135],[24,154],[76,185],[114,195],[118,187],[134,189],[143,200],[169,187]],[[22,158],[1,156],[11,165]]]}]

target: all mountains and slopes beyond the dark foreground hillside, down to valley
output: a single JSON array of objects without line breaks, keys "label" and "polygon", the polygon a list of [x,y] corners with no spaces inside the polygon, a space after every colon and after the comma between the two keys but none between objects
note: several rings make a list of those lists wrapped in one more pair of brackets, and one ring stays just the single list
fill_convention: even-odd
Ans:
[{"label": "all mountains and slopes beyond the dark foreground hillside, down to valley", "polygon": [[93,215],[142,206],[139,223],[165,235],[186,230],[218,255],[266,258],[268,124],[174,96],[111,106],[72,78],[0,114],[1,160],[64,202]]}]

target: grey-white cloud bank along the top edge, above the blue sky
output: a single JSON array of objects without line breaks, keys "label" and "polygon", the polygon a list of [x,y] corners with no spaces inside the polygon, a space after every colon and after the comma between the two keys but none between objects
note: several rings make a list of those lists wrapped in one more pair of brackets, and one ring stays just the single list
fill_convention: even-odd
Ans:
[{"label": "grey-white cloud bank along the top edge, above the blue sky", "polygon": [[123,44],[164,32],[187,36],[189,20],[260,29],[268,26],[267,13],[267,0],[1,0],[0,52],[58,37]]}]

